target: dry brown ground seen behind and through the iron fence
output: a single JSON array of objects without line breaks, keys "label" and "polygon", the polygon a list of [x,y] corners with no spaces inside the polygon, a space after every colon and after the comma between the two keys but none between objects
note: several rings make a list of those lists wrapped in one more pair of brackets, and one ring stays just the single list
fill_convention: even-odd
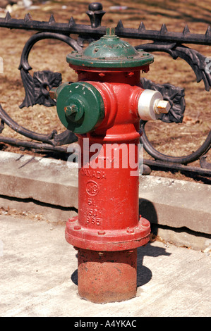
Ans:
[{"label": "dry brown ground seen behind and through the iron fence", "polygon": [[[30,9],[14,5],[12,7],[12,18],[24,18],[30,12],[34,20],[48,21],[51,13],[54,14],[56,22],[67,23],[73,16],[76,23],[89,24],[88,5],[91,1],[34,1]],[[182,32],[186,24],[193,33],[204,34],[207,25],[211,23],[211,1],[101,1],[104,11],[107,13],[102,18],[103,26],[116,26],[122,20],[125,27],[137,27],[143,21],[146,29],[159,30],[162,23],[167,25],[169,32]],[[115,6],[126,6],[117,9]],[[5,11],[0,12],[1,17]],[[56,107],[46,108],[44,106],[33,106],[29,108],[18,108],[24,99],[25,91],[20,78],[18,65],[25,42],[35,32],[25,30],[8,30],[0,28],[0,56],[4,60],[4,74],[0,75],[0,103],[11,117],[20,125],[30,130],[41,133],[52,132],[56,128],[63,132],[56,115]],[[146,41],[130,40],[133,46],[143,44]],[[204,56],[211,56],[210,46],[188,45],[200,51]],[[62,42],[45,39],[38,42],[30,52],[29,63],[32,71],[52,70],[62,74],[63,81],[76,80],[76,73],[66,63],[66,54],[71,48]],[[170,83],[177,87],[185,88],[186,111],[183,123],[147,123],[147,136],[153,146],[164,154],[182,156],[191,154],[204,142],[211,129],[210,115],[210,92],[205,91],[203,81],[197,83],[195,74],[191,67],[182,59],[173,60],[171,56],[163,53],[154,53],[155,61],[151,65],[150,72],[144,77],[160,84]],[[5,127],[3,135],[23,139],[18,133]],[[1,145],[1,149],[17,151],[11,146]],[[23,151],[21,151],[22,153]],[[29,151],[26,151],[29,153]],[[211,153],[210,153],[211,154]],[[211,160],[208,154],[207,161]],[[145,158],[150,158],[147,154]],[[191,164],[199,166],[198,161]],[[152,171],[152,175],[164,175],[178,179],[190,180],[180,173],[162,173]],[[191,179],[193,180],[193,179]]]}]

